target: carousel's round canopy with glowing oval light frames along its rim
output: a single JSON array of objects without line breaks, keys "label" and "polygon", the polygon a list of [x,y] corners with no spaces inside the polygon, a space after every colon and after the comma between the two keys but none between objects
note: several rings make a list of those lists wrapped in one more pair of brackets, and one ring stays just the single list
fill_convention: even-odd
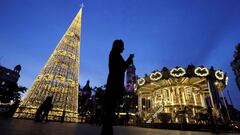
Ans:
[{"label": "carousel's round canopy with glowing oval light frames along its rim", "polygon": [[188,65],[187,68],[177,66],[172,69],[164,67],[162,70],[154,70],[149,75],[146,74],[144,77],[138,78],[135,90],[151,91],[172,86],[191,86],[207,90],[208,80],[214,82],[218,91],[222,91],[228,83],[228,77],[222,70]]}]

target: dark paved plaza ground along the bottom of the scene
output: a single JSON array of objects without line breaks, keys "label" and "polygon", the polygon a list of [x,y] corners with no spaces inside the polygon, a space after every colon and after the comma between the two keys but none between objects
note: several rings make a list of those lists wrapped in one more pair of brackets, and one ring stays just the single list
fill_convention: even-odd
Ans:
[{"label": "dark paved plaza ground along the bottom of the scene", "polygon": [[[36,123],[32,120],[0,119],[0,135],[99,135],[100,127],[77,123]],[[237,135],[237,133],[219,133]],[[213,135],[209,132],[114,127],[114,135]]]}]

